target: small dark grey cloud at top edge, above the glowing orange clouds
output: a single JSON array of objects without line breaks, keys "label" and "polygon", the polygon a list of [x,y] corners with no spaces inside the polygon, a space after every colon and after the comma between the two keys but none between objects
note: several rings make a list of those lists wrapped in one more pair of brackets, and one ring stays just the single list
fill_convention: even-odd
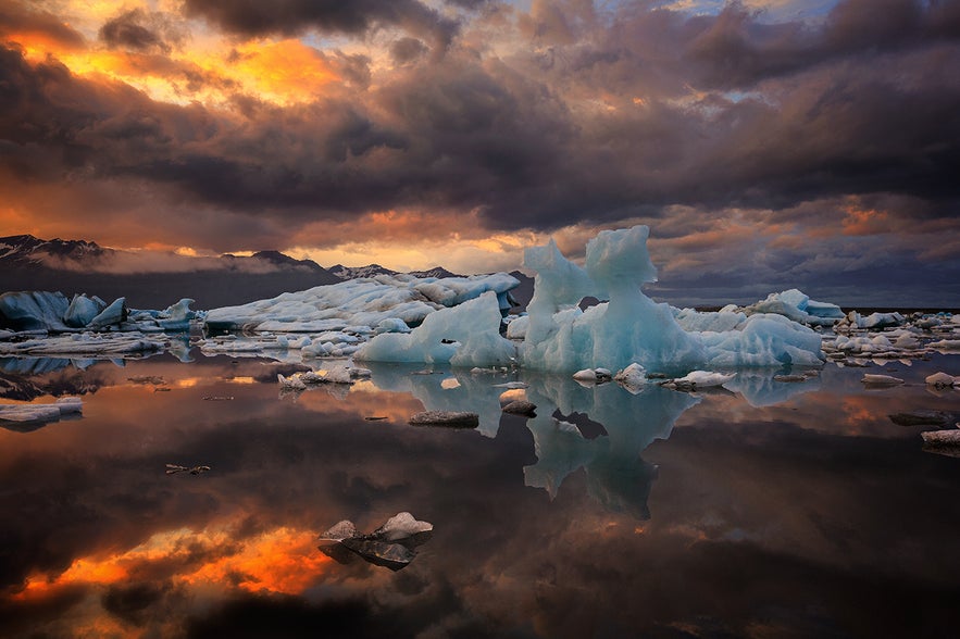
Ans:
[{"label": "small dark grey cloud at top edge, above the glowing orange clouds", "polygon": [[429,35],[446,48],[458,28],[419,0],[186,0],[184,10],[244,36],[298,35],[310,28],[363,35],[378,26],[396,26]]}]

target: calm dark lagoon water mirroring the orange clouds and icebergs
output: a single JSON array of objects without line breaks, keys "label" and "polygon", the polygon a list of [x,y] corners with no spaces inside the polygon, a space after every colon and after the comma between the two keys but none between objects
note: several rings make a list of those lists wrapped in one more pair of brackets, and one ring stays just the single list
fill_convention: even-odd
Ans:
[{"label": "calm dark lagoon water mirroring the orange clouds and icebergs", "polygon": [[[698,396],[521,373],[529,421],[500,414],[512,376],[383,366],[284,394],[290,367],[265,361],[64,363],[0,361],[2,401],[85,401],[0,429],[2,636],[946,637],[960,619],[960,459],[887,416],[960,412],[923,385],[960,356]],[[482,424],[408,426],[424,408]],[[401,571],[317,548],[400,511],[435,526]]]}]

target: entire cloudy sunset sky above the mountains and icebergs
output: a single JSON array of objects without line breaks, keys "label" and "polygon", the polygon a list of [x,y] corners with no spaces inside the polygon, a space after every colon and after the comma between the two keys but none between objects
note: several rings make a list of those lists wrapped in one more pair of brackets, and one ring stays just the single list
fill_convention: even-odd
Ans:
[{"label": "entire cloudy sunset sky above the mountains and icebergs", "polygon": [[960,306],[958,176],[960,0],[0,4],[0,236]]}]

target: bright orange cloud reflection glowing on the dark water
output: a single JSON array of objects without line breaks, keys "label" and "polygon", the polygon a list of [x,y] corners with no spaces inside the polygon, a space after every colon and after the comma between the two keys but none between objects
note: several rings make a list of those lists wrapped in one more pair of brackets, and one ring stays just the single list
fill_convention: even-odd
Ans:
[{"label": "bright orange cloud reflection glowing on the dark water", "polygon": [[[189,563],[196,548],[209,550],[209,561]],[[138,573],[167,575],[174,584],[219,586],[251,592],[297,594],[315,584],[328,556],[316,550],[316,534],[279,527],[236,541],[227,528],[195,532],[188,528],[153,535],[145,543],[108,556],[77,559],[59,575],[32,575],[17,600],[36,600],[70,586],[110,586],[136,578]]]}]

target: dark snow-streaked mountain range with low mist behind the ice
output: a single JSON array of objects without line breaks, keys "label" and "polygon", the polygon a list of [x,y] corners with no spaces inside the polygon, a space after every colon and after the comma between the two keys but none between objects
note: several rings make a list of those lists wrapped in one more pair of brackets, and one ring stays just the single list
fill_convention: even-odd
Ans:
[{"label": "dark snow-streaked mountain range with low mist behind the ice", "polygon": [[[125,297],[134,309],[165,309],[180,298],[196,300],[195,309],[214,309],[347,279],[397,274],[379,264],[324,268],[312,260],[273,250],[249,256],[195,258],[109,249],[86,240],[0,237],[0,292],[59,290],[67,297],[85,292],[108,302]],[[410,274],[457,276],[442,266]],[[522,273],[513,275],[523,283],[515,297],[525,302],[532,283]]]}]

